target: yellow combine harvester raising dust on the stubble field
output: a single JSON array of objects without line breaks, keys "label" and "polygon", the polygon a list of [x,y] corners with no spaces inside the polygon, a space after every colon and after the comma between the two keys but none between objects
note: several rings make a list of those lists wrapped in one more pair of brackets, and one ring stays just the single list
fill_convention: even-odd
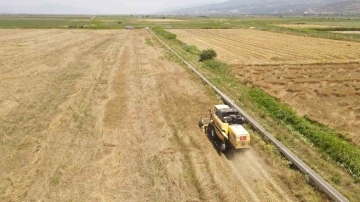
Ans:
[{"label": "yellow combine harvester raising dust on the stubble field", "polygon": [[220,142],[220,150],[250,148],[250,135],[242,126],[244,118],[227,105],[215,105],[210,110],[210,118],[203,118],[199,126],[215,141]]}]

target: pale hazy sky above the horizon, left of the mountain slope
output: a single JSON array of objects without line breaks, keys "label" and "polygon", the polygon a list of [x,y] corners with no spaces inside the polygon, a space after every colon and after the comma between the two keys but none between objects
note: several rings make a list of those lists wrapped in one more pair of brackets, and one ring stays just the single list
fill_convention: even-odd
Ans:
[{"label": "pale hazy sky above the horizon, left of the mountain slope", "polygon": [[224,0],[0,0],[0,13],[151,14]]}]

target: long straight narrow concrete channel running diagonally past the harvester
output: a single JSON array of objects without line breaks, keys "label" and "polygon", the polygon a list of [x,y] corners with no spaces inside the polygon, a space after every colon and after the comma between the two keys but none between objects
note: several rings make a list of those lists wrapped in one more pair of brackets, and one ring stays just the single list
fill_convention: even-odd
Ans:
[{"label": "long straight narrow concrete channel running diagonally past the harvester", "polygon": [[209,85],[215,92],[218,94],[223,101],[239,111],[239,113],[245,118],[246,122],[251,125],[257,132],[259,132],[264,138],[269,140],[274,144],[277,149],[290,161],[292,162],[304,175],[310,177],[315,186],[317,186],[321,191],[327,194],[332,200],[339,202],[348,202],[348,200],[341,195],[334,187],[327,183],[322,177],[320,177],[314,170],[307,166],[300,158],[298,158],[294,153],[292,153],[288,148],[285,147],[280,141],[278,141],[271,133],[265,130],[255,119],[253,119],[249,114],[247,114],[243,109],[235,104],[227,95],[221,92],[214,84],[212,84],[208,79],[206,79],[198,70],[196,70],[190,63],[183,59],[178,53],[176,53],[172,48],[170,48],[165,42],[163,42],[156,34],[154,34],[150,29],[147,30],[158,39],[166,48],[168,48],[172,53],[174,53],[182,62],[184,62],[195,74],[197,74],[200,79]]}]

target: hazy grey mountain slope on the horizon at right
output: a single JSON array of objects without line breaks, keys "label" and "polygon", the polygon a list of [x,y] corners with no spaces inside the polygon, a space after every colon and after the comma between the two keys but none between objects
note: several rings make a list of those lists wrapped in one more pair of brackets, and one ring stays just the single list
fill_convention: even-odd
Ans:
[{"label": "hazy grey mountain slope on the horizon at right", "polygon": [[360,14],[359,0],[229,0],[172,11],[175,15],[244,15],[244,14]]}]

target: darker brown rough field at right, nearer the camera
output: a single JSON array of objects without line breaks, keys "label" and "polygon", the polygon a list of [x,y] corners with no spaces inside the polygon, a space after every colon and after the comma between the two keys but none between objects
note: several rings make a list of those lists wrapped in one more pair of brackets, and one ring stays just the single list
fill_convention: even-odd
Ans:
[{"label": "darker brown rough field at right, nearer the camera", "polygon": [[233,72],[360,145],[359,64],[234,66]]}]

